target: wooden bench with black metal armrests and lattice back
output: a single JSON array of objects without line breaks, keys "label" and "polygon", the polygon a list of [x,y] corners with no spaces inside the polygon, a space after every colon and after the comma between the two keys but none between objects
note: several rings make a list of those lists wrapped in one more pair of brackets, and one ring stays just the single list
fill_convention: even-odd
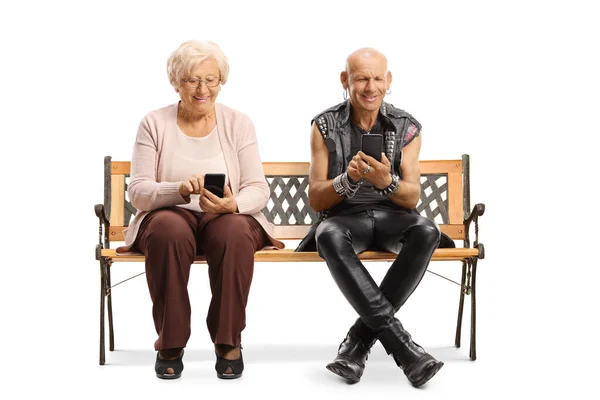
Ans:
[{"label": "wooden bench with black metal armrests and lattice back", "polygon": [[[269,203],[263,210],[275,224],[274,236],[280,240],[302,239],[318,219],[308,204],[308,169],[305,162],[265,162],[265,176],[271,189]],[[471,342],[469,357],[475,352],[475,277],[477,260],[484,258],[484,247],[479,242],[478,217],[485,206],[470,206],[469,156],[460,160],[420,161],[421,200],[417,207],[421,215],[438,222],[442,232],[453,240],[463,241],[461,248],[438,248],[432,261],[458,261],[462,264],[458,321],[455,345],[460,347],[462,315],[465,295],[471,296]],[[99,243],[96,260],[100,262],[100,365],[105,360],[105,310],[108,313],[109,349],[114,350],[114,327],[110,271],[117,262],[144,262],[144,256],[117,255],[111,244],[122,242],[123,229],[129,224],[136,209],[127,200],[129,161],[104,158],[104,204],[94,209],[99,218]],[[471,246],[469,230],[474,227],[475,240]],[[363,261],[394,261],[396,254],[365,251],[359,254]],[[294,249],[262,250],[254,257],[256,262],[324,262],[316,252],[294,252]],[[205,263],[196,257],[195,263]],[[430,271],[431,272],[431,271]],[[447,278],[446,278],[447,279]]]}]

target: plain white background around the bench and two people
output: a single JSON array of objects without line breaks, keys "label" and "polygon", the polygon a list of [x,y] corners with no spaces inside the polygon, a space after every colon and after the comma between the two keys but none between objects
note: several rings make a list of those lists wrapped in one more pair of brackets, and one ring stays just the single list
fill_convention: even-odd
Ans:
[{"label": "plain white background around the bench and two people", "polygon": [[[4,3],[2,397],[597,396],[598,17],[591,1]],[[219,101],[253,119],[263,161],[308,161],[346,56],[387,55],[387,101],[423,124],[421,158],[470,154],[472,202],[487,207],[477,361],[468,310],[453,347],[458,288],[427,274],[398,316],[441,372],[413,389],[378,345],[360,384],[339,382],[324,365],[355,314],[315,263],[256,266],[241,380],[214,376],[205,266],[181,380],[154,377],[143,277],[114,289],[117,351],[98,366],[103,157],[130,159],[141,118],[178,100],[165,65],[188,39],[228,56]],[[369,269],[381,279],[385,265]],[[431,269],[459,278],[456,263]],[[141,271],[117,265],[113,282]]]}]

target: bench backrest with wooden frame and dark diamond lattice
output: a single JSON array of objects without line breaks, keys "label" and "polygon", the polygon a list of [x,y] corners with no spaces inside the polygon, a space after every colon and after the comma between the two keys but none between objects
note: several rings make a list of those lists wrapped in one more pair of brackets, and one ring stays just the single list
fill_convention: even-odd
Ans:
[{"label": "bench backrest with wooden frame and dark diamond lattice", "polygon": [[[271,197],[263,214],[275,225],[275,237],[302,239],[317,220],[308,205],[307,162],[264,162]],[[421,199],[417,210],[436,221],[452,239],[464,240],[464,219],[470,210],[469,156],[461,160],[420,161]],[[104,158],[104,207],[110,220],[110,241],[123,241],[123,229],[136,209],[127,197],[130,162]]]}]

